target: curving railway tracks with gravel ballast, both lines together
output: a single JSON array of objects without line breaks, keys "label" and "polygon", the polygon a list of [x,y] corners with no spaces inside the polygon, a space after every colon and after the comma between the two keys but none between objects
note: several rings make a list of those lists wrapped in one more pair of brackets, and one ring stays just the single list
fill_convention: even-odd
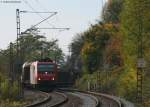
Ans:
[{"label": "curving railway tracks with gravel ballast, both lines together", "polygon": [[60,89],[46,94],[45,101],[27,107],[128,107],[117,97],[95,92]]}]

